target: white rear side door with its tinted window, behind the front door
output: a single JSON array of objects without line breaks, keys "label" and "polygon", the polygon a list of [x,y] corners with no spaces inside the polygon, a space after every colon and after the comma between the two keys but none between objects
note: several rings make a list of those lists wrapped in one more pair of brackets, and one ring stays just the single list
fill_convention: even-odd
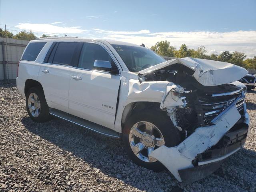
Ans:
[{"label": "white rear side door with its tinted window, behind the front door", "polygon": [[54,42],[41,65],[38,81],[49,107],[68,112],[70,71],[77,64],[79,42]]}]

